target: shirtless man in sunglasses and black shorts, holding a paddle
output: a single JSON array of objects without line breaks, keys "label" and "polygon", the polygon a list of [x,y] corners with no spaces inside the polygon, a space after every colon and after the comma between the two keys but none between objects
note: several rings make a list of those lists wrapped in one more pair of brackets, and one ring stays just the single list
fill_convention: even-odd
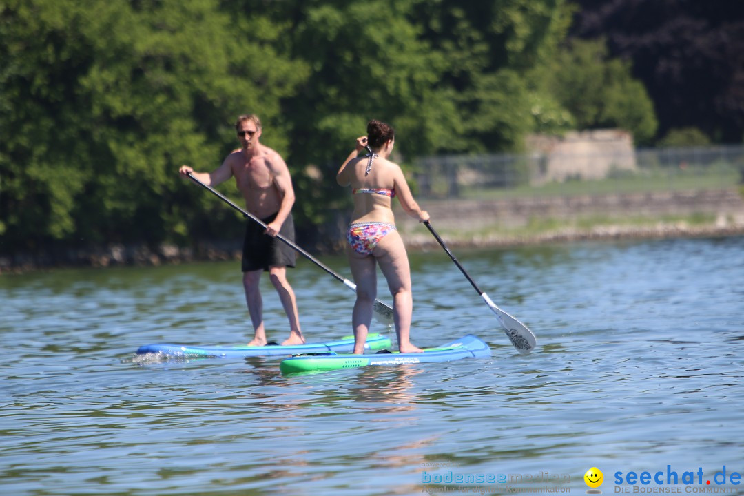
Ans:
[{"label": "shirtless man in sunglasses and black shorts, holding a paddle", "polygon": [[254,329],[254,338],[248,346],[266,344],[263,300],[259,289],[264,271],[269,272],[289,319],[289,338],[282,344],[304,344],[295,292],[286,280],[286,267],[295,266],[295,251],[275,237],[281,234],[292,242],[295,240],[295,225],[292,222],[295,191],[292,189],[292,178],[280,155],[260,144],[261,121],[257,116],[241,115],[237,118],[235,129],[241,148],[228,155],[217,170],[195,173],[191,167],[183,165],[179,173],[192,173],[209,186],[216,186],[234,177],[246,200],[246,210],[267,225],[264,229],[258,222],[248,219],[243,242],[243,288],[246,290],[248,313]]}]

